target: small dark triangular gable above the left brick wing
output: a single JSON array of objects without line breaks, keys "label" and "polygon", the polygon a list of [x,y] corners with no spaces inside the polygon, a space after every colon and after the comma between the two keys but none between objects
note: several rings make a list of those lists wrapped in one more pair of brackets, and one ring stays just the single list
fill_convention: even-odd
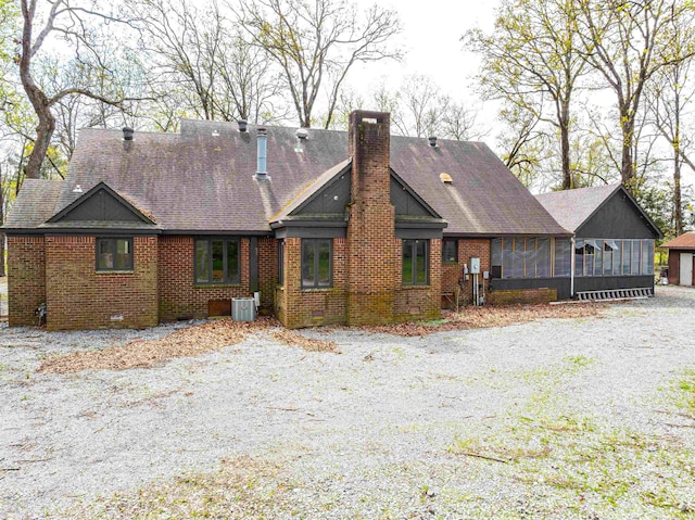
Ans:
[{"label": "small dark triangular gable above the left brick wing", "polygon": [[127,202],[103,182],[97,185],[48,221],[121,221],[152,224],[151,219],[147,218],[132,204]]}]

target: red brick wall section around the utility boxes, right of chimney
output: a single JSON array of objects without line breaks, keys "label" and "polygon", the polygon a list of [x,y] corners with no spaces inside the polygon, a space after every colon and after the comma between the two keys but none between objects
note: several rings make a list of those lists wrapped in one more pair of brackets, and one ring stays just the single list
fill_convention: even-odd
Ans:
[{"label": "red brick wall section around the utility boxes, right of chimney", "polygon": [[[453,296],[456,284],[464,272],[464,264],[470,266],[470,258],[480,258],[480,276],[478,283],[485,284],[485,294],[490,292],[490,280],[483,280],[482,272],[490,272],[490,239],[458,239],[458,262],[456,264],[444,264],[442,266],[442,293],[447,294],[442,304],[452,307]],[[468,280],[462,282],[460,288],[460,305],[470,305],[473,300],[473,277],[469,276]]]}]

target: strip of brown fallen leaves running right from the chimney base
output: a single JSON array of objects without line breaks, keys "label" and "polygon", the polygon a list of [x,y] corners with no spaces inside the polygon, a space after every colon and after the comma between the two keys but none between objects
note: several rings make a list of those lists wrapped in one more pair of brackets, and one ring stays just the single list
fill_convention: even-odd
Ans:
[{"label": "strip of brown fallen leaves running right from the chimney base", "polygon": [[443,319],[414,321],[395,325],[359,327],[361,330],[403,337],[427,335],[432,332],[465,329],[508,327],[536,319],[577,319],[599,316],[606,304],[585,303],[576,305],[510,305],[466,307],[450,313]]}]

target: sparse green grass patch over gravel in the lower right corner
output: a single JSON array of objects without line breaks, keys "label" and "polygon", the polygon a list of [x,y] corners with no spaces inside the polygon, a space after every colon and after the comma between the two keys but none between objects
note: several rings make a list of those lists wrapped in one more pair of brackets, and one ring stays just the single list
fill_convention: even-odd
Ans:
[{"label": "sparse green grass patch over gravel in the lower right corner", "polygon": [[[534,385],[523,406],[491,434],[454,435],[450,453],[497,465],[497,475],[533,486],[539,518],[557,516],[554,504],[580,518],[604,518],[607,511],[618,512],[615,518],[693,518],[695,452],[677,437],[610,426],[571,409],[560,385],[593,364],[568,356],[522,372]],[[695,388],[693,376],[681,385],[685,392]]]}]

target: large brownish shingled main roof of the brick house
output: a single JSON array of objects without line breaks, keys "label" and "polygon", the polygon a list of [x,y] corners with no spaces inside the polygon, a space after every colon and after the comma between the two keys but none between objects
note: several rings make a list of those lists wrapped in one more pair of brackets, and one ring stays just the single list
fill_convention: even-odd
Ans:
[{"label": "large brownish shingled main roof of the brick house", "polygon": [[[269,221],[295,205],[302,194],[333,168],[348,164],[348,134],[309,129],[298,139],[293,128],[267,127],[269,181],[254,178],[257,127],[240,132],[236,124],[181,122],[180,134],[84,129],[70,170],[48,219],[99,182],[152,215],[163,232],[270,233]],[[393,136],[391,167],[445,220],[445,234],[568,234],[495,154],[481,142]],[[448,174],[451,183],[440,180]],[[320,179],[319,179],[320,180]],[[54,190],[55,188],[53,188]],[[13,221],[42,198],[23,189]],[[31,225],[40,218],[31,214]]]}]

